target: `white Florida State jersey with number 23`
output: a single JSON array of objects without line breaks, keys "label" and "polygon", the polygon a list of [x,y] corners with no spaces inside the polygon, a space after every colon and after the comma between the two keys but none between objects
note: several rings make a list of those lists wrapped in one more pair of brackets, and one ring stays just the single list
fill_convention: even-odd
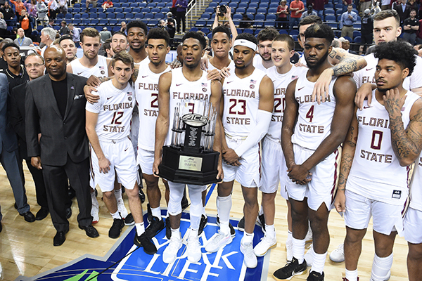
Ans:
[{"label": "white Florida State jersey with number 23", "polygon": [[248,77],[239,78],[236,73],[223,83],[224,132],[233,136],[248,136],[257,124],[260,105],[260,84],[265,72],[255,70]]}]

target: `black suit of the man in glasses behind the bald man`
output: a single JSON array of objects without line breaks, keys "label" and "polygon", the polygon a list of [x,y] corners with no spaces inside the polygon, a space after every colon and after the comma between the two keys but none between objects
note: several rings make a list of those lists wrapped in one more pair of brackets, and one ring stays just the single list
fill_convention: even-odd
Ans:
[{"label": "black suit of the man in glasses behind the bald man", "polygon": [[18,135],[20,162],[25,159],[27,167],[30,170],[37,191],[37,203],[39,206],[49,208],[47,202],[46,187],[42,171],[31,165],[31,158],[27,155],[27,143],[25,137],[25,91],[27,83],[15,86],[11,94],[11,108],[9,110],[11,124],[15,133]]}]

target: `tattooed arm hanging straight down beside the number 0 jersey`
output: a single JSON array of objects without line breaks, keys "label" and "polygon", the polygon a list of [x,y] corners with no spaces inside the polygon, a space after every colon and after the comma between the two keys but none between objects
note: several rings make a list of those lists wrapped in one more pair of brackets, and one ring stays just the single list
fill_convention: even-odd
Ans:
[{"label": "tattooed arm hanging straight down beside the number 0 jersey", "polygon": [[346,139],[343,142],[343,153],[341,155],[341,164],[340,164],[340,176],[338,177],[338,188],[337,188],[337,194],[335,195],[335,201],[334,201],[334,207],[339,213],[342,213],[345,211],[346,181],[350,173],[350,168],[352,168],[354,151],[356,150],[357,133],[358,133],[356,111],[357,111],[357,107],[354,108],[352,124],[350,124],[350,128],[349,128],[349,131],[347,132]]}]

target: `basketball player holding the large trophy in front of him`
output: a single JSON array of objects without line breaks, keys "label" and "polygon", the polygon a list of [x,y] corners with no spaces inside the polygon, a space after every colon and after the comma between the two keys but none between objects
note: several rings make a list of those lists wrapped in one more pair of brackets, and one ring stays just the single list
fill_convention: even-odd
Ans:
[{"label": "basketball player holding the large trophy in front of him", "polygon": [[[183,67],[166,72],[161,75],[158,82],[158,118],[155,126],[155,159],[153,164],[153,174],[158,176],[158,166],[162,157],[162,146],[170,145],[172,137],[174,107],[181,103],[184,96],[194,94],[190,100],[192,103],[198,102],[201,96],[210,100],[210,103],[219,110],[221,84],[219,81],[208,81],[207,72],[200,69],[200,60],[205,53],[205,38],[197,32],[187,32],[183,39],[182,58]],[[205,90],[205,91],[204,91]],[[186,93],[186,95],[184,94]],[[187,103],[184,103],[185,105]],[[191,105],[188,105],[189,107]],[[194,108],[190,108],[195,112]],[[219,151],[219,122],[215,129],[214,150]],[[221,159],[221,158],[220,158]],[[221,162],[219,164],[219,174],[217,178],[222,177]],[[162,261],[172,263],[177,252],[181,248],[180,236],[180,218],[181,218],[181,199],[183,197],[185,185],[183,183],[173,183],[168,181],[170,187],[170,201],[168,204],[168,214],[170,216],[171,237],[170,243],[162,254]],[[201,193],[203,186],[188,184],[189,197],[191,199],[191,230],[188,234],[187,253],[188,261],[196,263],[200,261],[201,251],[198,239],[198,228],[200,225],[200,214],[203,209]]]}]

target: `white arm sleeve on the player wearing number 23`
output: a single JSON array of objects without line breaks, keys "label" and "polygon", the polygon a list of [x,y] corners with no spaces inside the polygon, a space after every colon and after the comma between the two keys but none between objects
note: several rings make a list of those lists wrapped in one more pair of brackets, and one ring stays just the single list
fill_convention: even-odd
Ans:
[{"label": "white arm sleeve on the player wearing number 23", "polygon": [[243,153],[250,150],[254,145],[257,145],[264,138],[265,134],[268,132],[269,123],[271,122],[272,112],[265,110],[258,110],[257,116],[257,125],[250,130],[248,138],[243,141],[243,143],[234,150],[238,157],[241,157]]}]

